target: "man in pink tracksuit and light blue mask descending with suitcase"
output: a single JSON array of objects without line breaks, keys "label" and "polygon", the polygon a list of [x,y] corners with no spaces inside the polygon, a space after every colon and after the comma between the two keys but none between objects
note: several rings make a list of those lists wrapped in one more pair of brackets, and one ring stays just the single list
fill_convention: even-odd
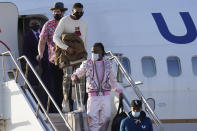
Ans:
[{"label": "man in pink tracksuit and light blue mask descending with suitcase", "polygon": [[95,43],[92,48],[92,59],[84,61],[72,75],[77,82],[86,75],[86,92],[88,93],[87,114],[90,131],[106,131],[111,117],[111,89],[120,93],[116,77],[113,74],[110,61],[104,58],[102,43]]}]

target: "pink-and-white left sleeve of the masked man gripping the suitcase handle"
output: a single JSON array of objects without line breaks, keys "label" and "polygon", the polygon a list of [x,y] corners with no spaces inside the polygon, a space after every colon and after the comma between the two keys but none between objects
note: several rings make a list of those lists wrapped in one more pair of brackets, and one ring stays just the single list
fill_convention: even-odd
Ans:
[{"label": "pink-and-white left sleeve of the masked man gripping the suitcase handle", "polygon": [[75,71],[75,73],[72,74],[71,79],[73,80],[74,76],[81,78],[82,76],[85,75],[86,70],[87,70],[87,61],[84,61],[82,62],[80,67]]}]

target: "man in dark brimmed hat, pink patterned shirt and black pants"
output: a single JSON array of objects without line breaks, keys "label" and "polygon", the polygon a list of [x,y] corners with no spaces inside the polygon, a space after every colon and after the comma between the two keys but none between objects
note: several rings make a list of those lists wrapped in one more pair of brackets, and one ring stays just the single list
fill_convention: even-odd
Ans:
[{"label": "man in dark brimmed hat, pink patterned shirt and black pants", "polygon": [[[64,4],[62,2],[56,2],[54,7],[50,9],[53,12],[54,19],[47,21],[41,31],[40,40],[38,44],[38,56],[37,60],[41,60],[43,58],[43,53],[45,50],[45,45],[48,45],[48,59],[49,59],[49,73],[50,76],[48,77],[48,81],[51,82],[51,87],[49,89],[50,93],[54,97],[57,105],[61,109],[61,103],[63,100],[63,93],[62,93],[62,76],[63,72],[55,66],[54,64],[54,57],[55,57],[55,49],[56,45],[53,42],[53,34],[55,29],[60,21],[60,19],[64,16],[65,11],[67,8],[64,8]],[[52,112],[55,112],[54,110]]]}]

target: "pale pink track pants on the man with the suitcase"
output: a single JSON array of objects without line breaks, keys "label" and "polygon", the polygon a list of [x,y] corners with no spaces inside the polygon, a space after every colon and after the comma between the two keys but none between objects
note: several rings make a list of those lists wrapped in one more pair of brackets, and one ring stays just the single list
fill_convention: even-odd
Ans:
[{"label": "pale pink track pants on the man with the suitcase", "polygon": [[90,131],[106,131],[111,117],[111,97],[90,96],[87,102]]}]

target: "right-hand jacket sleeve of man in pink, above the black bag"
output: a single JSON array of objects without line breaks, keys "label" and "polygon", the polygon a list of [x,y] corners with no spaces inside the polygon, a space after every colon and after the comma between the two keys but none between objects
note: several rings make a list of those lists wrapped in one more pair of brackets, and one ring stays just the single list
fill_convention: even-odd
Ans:
[{"label": "right-hand jacket sleeve of man in pink, above the black bag", "polygon": [[112,67],[110,67],[109,83],[110,83],[111,88],[112,88],[113,91],[116,91],[119,94],[122,93],[122,89],[120,89],[120,87],[117,84],[117,79],[114,75]]}]

